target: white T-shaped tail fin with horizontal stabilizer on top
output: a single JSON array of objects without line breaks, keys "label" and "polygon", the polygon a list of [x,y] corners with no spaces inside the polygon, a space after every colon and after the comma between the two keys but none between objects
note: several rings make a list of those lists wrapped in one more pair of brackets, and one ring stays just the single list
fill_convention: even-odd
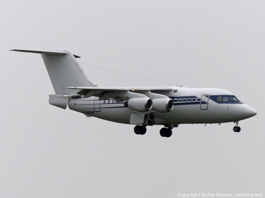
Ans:
[{"label": "white T-shaped tail fin with horizontal stabilizer on top", "polygon": [[46,51],[12,50],[19,52],[39,53],[45,63],[52,86],[56,94],[76,94],[75,90],[64,87],[98,87],[85,75],[75,57],[69,50],[54,49]]}]

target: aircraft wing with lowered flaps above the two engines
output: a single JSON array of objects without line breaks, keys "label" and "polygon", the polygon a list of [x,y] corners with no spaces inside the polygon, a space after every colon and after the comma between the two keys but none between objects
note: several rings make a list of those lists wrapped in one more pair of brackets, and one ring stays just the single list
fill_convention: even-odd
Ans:
[{"label": "aircraft wing with lowered flaps above the two engines", "polygon": [[77,94],[83,98],[99,97],[99,100],[113,98],[117,102],[135,97],[168,98],[163,93],[170,92],[171,87],[66,87],[77,89]]}]

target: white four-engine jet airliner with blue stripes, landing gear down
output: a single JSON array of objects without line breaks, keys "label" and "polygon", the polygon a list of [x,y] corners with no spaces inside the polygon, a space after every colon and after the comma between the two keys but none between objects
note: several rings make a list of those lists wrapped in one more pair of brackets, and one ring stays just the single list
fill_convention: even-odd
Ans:
[{"label": "white four-engine jet airliner with blue stripes, landing gear down", "polygon": [[39,53],[47,68],[55,94],[49,103],[78,111],[87,117],[134,124],[136,134],[146,126],[163,125],[160,135],[170,137],[179,124],[236,123],[256,115],[256,111],[232,93],[214,88],[184,87],[99,87],[92,83],[69,50],[19,50]]}]

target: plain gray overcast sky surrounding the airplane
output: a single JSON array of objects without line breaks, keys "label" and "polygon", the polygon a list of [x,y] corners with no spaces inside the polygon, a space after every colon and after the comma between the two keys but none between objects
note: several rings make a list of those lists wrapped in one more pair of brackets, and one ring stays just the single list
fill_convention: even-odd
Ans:
[{"label": "plain gray overcast sky surrounding the airplane", "polygon": [[[263,193],[265,1],[2,1],[0,197],[177,197]],[[48,103],[41,56],[183,87],[228,90],[257,111],[233,123],[144,136]],[[168,86],[81,63],[100,86]]]}]

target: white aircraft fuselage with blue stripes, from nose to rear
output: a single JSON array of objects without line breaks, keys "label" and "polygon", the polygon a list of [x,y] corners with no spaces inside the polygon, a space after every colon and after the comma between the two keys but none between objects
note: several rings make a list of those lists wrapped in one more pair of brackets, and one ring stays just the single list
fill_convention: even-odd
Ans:
[{"label": "white aircraft fuselage with blue stripes, from nose to rear", "polygon": [[[218,97],[234,97],[223,89],[214,88],[184,88],[171,87],[172,91],[164,95],[174,100],[170,112],[159,113],[148,111],[136,112],[114,99],[98,100],[98,97],[86,99],[71,99],[68,106],[74,111],[94,116],[100,119],[130,124],[134,113],[153,114],[156,125],[165,124],[195,124],[195,123],[225,123],[247,119],[256,115],[256,111],[241,101],[217,101]],[[175,92],[174,92],[175,90]],[[177,90],[177,91],[176,91]]]}]

